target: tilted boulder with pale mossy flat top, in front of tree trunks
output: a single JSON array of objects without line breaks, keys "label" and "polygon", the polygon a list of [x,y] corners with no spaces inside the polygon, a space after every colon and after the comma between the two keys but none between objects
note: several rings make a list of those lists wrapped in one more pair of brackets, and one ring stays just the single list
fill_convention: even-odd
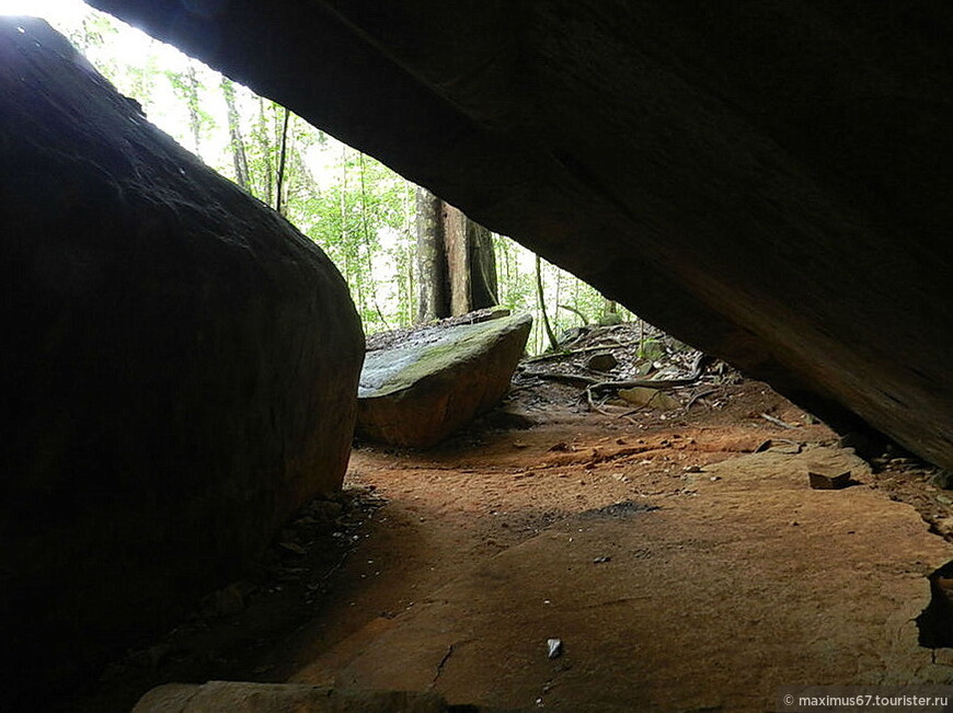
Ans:
[{"label": "tilted boulder with pale mossy flat top, in front of tree trunks", "polygon": [[368,352],[357,391],[357,433],[395,446],[428,448],[492,409],[532,326],[528,314],[423,330]]}]

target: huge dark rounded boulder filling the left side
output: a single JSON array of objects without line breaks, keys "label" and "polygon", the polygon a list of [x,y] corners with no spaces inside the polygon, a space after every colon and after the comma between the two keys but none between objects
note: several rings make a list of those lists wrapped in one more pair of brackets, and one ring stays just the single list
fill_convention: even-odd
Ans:
[{"label": "huge dark rounded boulder filling the left side", "polygon": [[41,21],[0,22],[0,156],[7,710],[340,487],[364,337],[320,250]]}]

